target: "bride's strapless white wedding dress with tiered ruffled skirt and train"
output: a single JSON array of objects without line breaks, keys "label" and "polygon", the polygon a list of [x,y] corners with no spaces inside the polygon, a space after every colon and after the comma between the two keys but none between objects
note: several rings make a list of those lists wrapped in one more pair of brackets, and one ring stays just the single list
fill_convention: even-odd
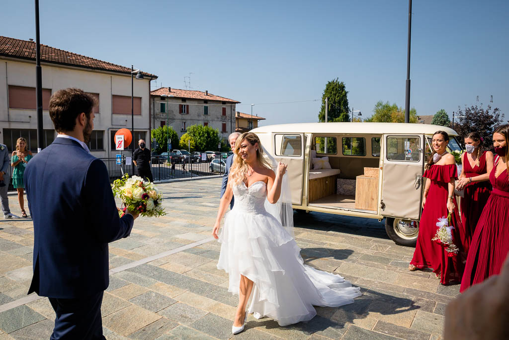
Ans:
[{"label": "bride's strapless white wedding dress with tiered ruffled skirt and train", "polygon": [[232,188],[235,204],[219,236],[217,268],[229,274],[233,294],[239,294],[241,274],[254,282],[248,313],[286,326],[312,319],[313,305],[337,307],[360,296],[360,289],[340,275],[304,265],[294,238],[264,206],[265,182]]}]

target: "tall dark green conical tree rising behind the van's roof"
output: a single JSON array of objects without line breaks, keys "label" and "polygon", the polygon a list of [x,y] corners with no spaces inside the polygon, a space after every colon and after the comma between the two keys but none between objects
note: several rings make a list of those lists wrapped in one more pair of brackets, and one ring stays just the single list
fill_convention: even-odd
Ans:
[{"label": "tall dark green conical tree rising behind the van's roof", "polygon": [[345,83],[336,79],[325,85],[322,95],[322,108],[318,113],[318,121],[325,121],[325,98],[329,98],[329,111],[327,113],[327,121],[329,122],[347,122],[350,120],[348,107],[348,91]]}]

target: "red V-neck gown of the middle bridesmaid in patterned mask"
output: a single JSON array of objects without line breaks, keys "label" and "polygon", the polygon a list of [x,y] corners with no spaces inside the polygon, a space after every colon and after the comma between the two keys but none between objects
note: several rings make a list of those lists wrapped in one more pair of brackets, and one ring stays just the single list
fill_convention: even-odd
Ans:
[{"label": "red V-neck gown of the middle bridesmaid in patterned mask", "polygon": [[[465,153],[463,157],[463,169],[467,178],[487,173],[486,152],[483,152],[479,157],[479,165],[475,165],[473,168],[470,162],[468,162],[467,154]],[[483,213],[488,198],[490,198],[491,189],[492,186],[489,180],[471,182],[465,186],[465,197],[460,200],[461,223],[465,230],[465,238],[461,240],[461,243],[467,253],[474,236],[475,226],[479,221],[480,215]]]}]

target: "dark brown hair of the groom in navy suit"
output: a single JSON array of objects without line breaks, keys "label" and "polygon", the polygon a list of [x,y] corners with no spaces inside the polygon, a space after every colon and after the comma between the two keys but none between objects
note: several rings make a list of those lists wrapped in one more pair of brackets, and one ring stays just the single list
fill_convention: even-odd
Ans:
[{"label": "dark brown hair of the groom in navy suit", "polygon": [[56,132],[74,130],[76,117],[82,112],[90,119],[96,104],[94,96],[80,89],[68,88],[53,93],[49,99],[49,116]]}]

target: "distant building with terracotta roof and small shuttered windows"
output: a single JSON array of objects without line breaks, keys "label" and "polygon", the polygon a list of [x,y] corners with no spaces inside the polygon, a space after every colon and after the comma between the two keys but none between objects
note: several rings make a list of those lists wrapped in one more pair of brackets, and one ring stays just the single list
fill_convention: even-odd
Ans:
[{"label": "distant building with terracotta roof and small shuttered windows", "polygon": [[191,125],[207,125],[219,131],[226,140],[235,131],[235,106],[240,101],[220,97],[208,91],[191,91],[161,87],[151,92],[155,127],[169,124],[179,137]]}]

